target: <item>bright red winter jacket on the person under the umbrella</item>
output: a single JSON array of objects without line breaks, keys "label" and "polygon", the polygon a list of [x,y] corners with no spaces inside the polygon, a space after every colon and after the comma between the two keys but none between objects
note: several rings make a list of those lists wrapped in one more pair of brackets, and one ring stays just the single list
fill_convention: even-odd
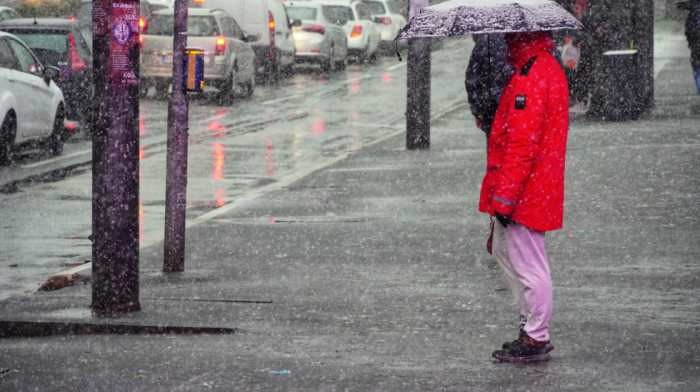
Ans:
[{"label": "bright red winter jacket on the person under the umbrella", "polygon": [[[509,40],[516,72],[501,97],[488,142],[479,211],[498,211],[537,231],[562,227],[569,86],[549,33]],[[534,60],[533,60],[534,58]]]}]

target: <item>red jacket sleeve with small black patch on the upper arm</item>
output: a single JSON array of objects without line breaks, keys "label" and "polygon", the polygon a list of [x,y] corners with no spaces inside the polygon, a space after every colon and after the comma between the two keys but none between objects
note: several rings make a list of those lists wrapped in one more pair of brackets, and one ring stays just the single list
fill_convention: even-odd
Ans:
[{"label": "red jacket sleeve with small black patch on the upper arm", "polygon": [[513,98],[508,103],[504,154],[493,204],[496,211],[506,215],[513,212],[539,151],[547,99],[547,80],[540,76],[542,72],[546,70],[535,66],[529,75],[516,76]]}]

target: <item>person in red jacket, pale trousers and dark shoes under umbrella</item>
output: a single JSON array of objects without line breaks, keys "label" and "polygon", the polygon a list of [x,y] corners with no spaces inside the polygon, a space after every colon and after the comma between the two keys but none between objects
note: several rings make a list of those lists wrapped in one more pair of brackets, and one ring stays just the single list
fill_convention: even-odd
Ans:
[{"label": "person in red jacket, pale trousers and dark shoes under umbrella", "polygon": [[509,33],[516,71],[501,97],[488,141],[479,211],[495,216],[492,252],[520,311],[520,336],[493,356],[549,360],[552,283],[544,233],[562,227],[569,87],[549,53],[551,32]]}]

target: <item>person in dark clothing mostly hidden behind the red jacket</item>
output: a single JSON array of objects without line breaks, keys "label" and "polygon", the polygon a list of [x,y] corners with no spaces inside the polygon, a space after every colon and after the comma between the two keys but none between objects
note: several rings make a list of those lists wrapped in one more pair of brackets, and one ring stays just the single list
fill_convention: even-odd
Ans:
[{"label": "person in dark clothing mostly hidden behind the red jacket", "polygon": [[482,34],[475,40],[464,87],[476,126],[488,137],[501,94],[514,68],[506,61],[508,45],[505,34]]}]

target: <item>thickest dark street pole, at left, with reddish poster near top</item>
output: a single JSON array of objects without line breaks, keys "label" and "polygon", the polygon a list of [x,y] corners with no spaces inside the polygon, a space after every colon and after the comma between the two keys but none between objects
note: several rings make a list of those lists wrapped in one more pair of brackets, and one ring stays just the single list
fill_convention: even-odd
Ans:
[{"label": "thickest dark street pole, at left, with reddish poster near top", "polygon": [[139,303],[138,0],[93,0],[92,310]]}]

